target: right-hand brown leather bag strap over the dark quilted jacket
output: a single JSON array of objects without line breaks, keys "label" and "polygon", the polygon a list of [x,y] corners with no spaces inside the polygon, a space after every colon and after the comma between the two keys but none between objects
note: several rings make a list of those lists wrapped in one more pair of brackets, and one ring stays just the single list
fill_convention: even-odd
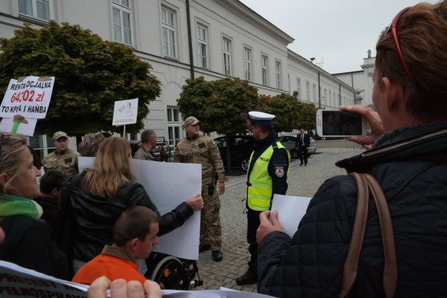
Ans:
[{"label": "right-hand brown leather bag strap over the dark quilted jacket", "polygon": [[368,182],[369,189],[376,201],[378,217],[380,221],[380,231],[382,232],[383,255],[385,257],[385,268],[383,269],[383,287],[386,297],[394,297],[397,285],[397,257],[394,245],[394,233],[388,209],[387,200],[383,195],[382,188],[373,176],[364,173],[363,176]]}]

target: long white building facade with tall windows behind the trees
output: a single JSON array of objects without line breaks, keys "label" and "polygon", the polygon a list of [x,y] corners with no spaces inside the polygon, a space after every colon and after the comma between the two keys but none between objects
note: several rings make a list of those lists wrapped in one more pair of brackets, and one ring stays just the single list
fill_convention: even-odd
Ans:
[{"label": "long white building facade with tall windows behind the trees", "polygon": [[[145,127],[170,144],[184,137],[177,107],[181,87],[198,76],[239,77],[266,95],[297,90],[299,100],[321,107],[354,104],[352,85],[289,50],[291,36],[238,0],[0,1],[1,37],[12,37],[24,22],[39,28],[48,20],[90,29],[149,62],[162,93],[151,102]],[[43,155],[53,146],[50,136],[30,143]]]}]

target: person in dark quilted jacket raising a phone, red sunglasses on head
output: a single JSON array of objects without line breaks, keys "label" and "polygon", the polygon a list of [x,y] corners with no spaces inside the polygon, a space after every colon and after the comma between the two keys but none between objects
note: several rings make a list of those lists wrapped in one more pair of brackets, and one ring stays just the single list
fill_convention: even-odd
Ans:
[{"label": "person in dark quilted jacket raising a phone, red sunglasses on head", "polygon": [[[377,114],[367,107],[341,107],[366,116],[371,125],[371,135],[350,139],[373,144],[371,149],[337,165],[348,172],[368,172],[383,189],[397,255],[394,297],[447,293],[446,26],[447,2],[401,11],[376,46]],[[261,213],[258,291],[275,297],[336,297],[356,202],[352,177],[326,180],[293,238],[282,233],[277,212]],[[372,198],[363,243],[350,294],[385,297],[383,245]]]}]

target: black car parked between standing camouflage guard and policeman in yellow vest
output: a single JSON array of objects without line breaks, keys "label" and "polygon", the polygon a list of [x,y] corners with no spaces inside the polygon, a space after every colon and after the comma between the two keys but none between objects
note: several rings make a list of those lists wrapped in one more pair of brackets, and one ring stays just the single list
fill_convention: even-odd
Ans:
[{"label": "black car parked between standing camouflage guard and policeman in yellow vest", "polygon": [[[230,160],[231,168],[241,168],[248,170],[248,163],[253,152],[254,137],[252,135],[230,135],[228,136],[230,142]],[[224,167],[227,168],[226,158],[226,137],[216,137],[217,147],[221,153]]]}]

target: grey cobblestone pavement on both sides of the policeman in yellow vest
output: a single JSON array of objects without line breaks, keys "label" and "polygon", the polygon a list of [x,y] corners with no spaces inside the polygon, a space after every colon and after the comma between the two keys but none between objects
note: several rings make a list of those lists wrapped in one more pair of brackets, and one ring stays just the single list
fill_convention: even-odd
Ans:
[{"label": "grey cobblestone pavement on both sides of the policeman in yellow vest", "polygon": [[[335,175],[345,175],[345,170],[336,167],[336,161],[360,154],[362,151],[352,148],[317,149],[317,153],[309,157],[307,166],[299,166],[299,160],[292,160],[287,195],[312,197],[324,180]],[[256,292],[256,284],[240,286],[235,281],[247,271],[249,260],[247,217],[242,213],[245,209],[245,202],[242,201],[244,191],[245,175],[229,177],[225,194],[220,197],[224,259],[222,262],[214,262],[210,251],[200,253],[198,268],[203,286],[196,287],[196,290],[228,287]]]}]

